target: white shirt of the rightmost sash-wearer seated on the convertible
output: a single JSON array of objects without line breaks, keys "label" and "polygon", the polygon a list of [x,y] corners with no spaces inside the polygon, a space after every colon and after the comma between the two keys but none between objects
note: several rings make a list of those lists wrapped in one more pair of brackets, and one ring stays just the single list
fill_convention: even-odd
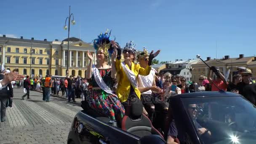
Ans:
[{"label": "white shirt of the rightmost sash-wearer seated on the convertible", "polygon": [[[144,77],[146,77],[146,79],[151,83],[150,86],[152,86],[153,81],[154,81],[154,77],[155,77],[155,69],[152,68],[149,75],[144,76]],[[142,79],[143,79],[143,76],[139,75],[138,76],[138,87],[139,88],[147,88],[146,85],[148,85],[148,84]],[[148,91],[145,91],[144,93],[141,93],[141,94],[152,94],[152,91],[148,90]]]}]

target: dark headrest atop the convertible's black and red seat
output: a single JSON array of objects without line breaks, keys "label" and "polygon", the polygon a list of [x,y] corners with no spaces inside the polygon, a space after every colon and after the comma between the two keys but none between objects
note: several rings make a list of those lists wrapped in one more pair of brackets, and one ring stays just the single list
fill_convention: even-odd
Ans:
[{"label": "dark headrest atop the convertible's black and red seat", "polygon": [[140,99],[133,98],[131,99],[131,117],[139,118],[143,113],[143,104]]}]

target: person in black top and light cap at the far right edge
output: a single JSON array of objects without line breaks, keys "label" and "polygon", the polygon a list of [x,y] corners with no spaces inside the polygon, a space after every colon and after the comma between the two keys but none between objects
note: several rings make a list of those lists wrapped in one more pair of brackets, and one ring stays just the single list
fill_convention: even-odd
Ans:
[{"label": "person in black top and light cap at the far right edge", "polygon": [[242,72],[242,82],[238,83],[238,91],[243,95],[248,101],[256,104],[256,84],[251,82],[252,72],[251,69],[246,68]]}]

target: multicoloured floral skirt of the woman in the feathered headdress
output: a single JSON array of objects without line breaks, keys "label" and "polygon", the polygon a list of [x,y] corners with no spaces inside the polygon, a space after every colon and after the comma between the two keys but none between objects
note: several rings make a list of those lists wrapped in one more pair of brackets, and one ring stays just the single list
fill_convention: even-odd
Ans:
[{"label": "multicoloured floral skirt of the woman in the feathered headdress", "polygon": [[86,96],[89,106],[96,112],[106,115],[111,120],[116,120],[115,117],[125,114],[125,109],[119,99],[105,91],[89,92]]}]

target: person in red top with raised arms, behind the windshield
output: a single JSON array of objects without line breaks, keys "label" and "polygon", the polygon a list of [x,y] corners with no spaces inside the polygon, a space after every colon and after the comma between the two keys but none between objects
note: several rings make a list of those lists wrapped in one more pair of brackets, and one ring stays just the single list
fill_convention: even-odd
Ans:
[{"label": "person in red top with raised arms, behind the windshield", "polygon": [[[212,80],[213,79],[213,71],[215,71],[217,73],[217,76],[215,77],[215,80]],[[211,83],[214,83],[221,90],[227,91],[228,83],[225,83],[223,81],[223,80],[225,80],[225,77],[222,74],[222,72],[220,72],[219,69],[216,69],[216,67],[211,67],[209,73],[210,73],[209,80],[211,81]],[[217,88],[214,84],[211,85],[211,91],[219,91],[219,88]]]}]

